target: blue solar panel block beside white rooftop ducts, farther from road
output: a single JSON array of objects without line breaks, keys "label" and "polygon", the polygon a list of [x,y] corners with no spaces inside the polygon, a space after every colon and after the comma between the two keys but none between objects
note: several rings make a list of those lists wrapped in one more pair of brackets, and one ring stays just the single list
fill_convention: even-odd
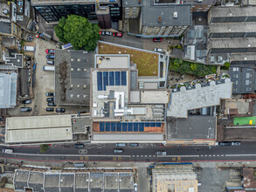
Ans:
[{"label": "blue solar panel block beside white rooftop ducts, farther from road", "polygon": [[98,91],[106,91],[106,86],[126,86],[127,72],[97,72]]}]

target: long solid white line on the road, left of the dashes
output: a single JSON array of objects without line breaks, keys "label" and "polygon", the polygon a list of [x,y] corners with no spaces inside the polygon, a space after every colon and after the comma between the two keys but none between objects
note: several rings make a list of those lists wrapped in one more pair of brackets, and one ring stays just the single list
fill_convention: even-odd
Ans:
[{"label": "long solid white line on the road, left of the dashes", "polygon": [[131,155],[111,155],[111,154],[19,154],[19,153],[12,153],[12,154],[18,154],[18,155],[29,155],[29,156],[66,156],[66,157],[80,157],[80,156],[91,156],[91,157],[116,157],[116,156],[121,156],[121,157],[131,157]]}]

